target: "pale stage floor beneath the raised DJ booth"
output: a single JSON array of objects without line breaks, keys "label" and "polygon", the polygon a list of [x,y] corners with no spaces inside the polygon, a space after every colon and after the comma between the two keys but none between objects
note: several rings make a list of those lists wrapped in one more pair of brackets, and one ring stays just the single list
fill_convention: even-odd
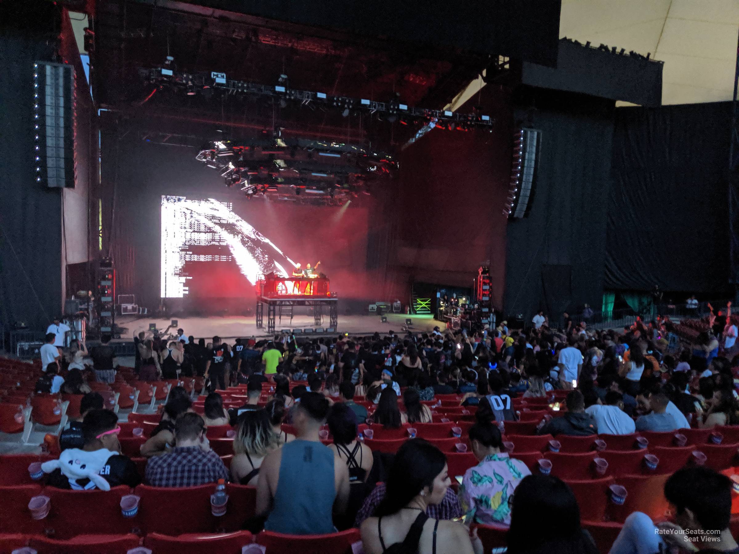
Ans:
[{"label": "pale stage floor beneath the raised DJ booth", "polygon": [[[386,314],[387,322],[382,323],[379,315],[339,315],[337,333],[348,332],[350,335],[371,335],[379,332],[381,335],[389,331],[395,331],[398,335],[403,335],[401,328],[405,325],[406,318],[412,319],[413,324],[411,330],[414,332],[429,332],[435,326],[443,328],[443,323],[436,321],[432,315],[406,315],[406,314]],[[148,331],[149,324],[157,324],[157,329],[166,329],[171,320],[168,319],[152,319],[147,316],[120,315],[115,318],[115,323],[121,327],[128,329],[125,335],[121,335],[120,340],[130,341],[133,336],[140,331]],[[193,335],[195,338],[205,338],[210,340],[214,335],[221,338],[234,339],[237,337],[249,338],[268,336],[265,329],[256,328],[256,318],[253,316],[228,316],[228,317],[209,317],[209,318],[177,318],[177,326],[185,331],[185,335]],[[328,316],[324,316],[323,328],[328,326]],[[314,329],[313,315],[295,315],[292,324],[290,318],[276,319],[276,333],[282,329]],[[175,329],[176,330],[176,329]],[[319,333],[317,336],[325,335]],[[316,335],[312,333],[311,335]],[[306,335],[306,336],[311,336]]]}]

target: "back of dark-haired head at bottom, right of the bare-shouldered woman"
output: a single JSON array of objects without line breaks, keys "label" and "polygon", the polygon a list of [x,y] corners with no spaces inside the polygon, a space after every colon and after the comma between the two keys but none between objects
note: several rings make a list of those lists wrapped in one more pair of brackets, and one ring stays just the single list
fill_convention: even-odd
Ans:
[{"label": "back of dark-haired head at bottom, right of the bare-shouldered woman", "polygon": [[513,496],[507,554],[534,553],[599,554],[580,524],[575,495],[559,477],[529,475]]}]

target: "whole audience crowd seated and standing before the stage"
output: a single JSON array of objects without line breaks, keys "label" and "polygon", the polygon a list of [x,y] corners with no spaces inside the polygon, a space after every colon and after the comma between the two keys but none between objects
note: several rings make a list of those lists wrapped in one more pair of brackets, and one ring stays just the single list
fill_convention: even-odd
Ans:
[{"label": "whole audience crowd seated and standing before the stage", "polygon": [[[166,349],[160,342],[158,353],[150,340],[141,341],[140,374],[158,359],[161,372],[208,379],[205,413],[194,413],[184,389],[171,389],[161,422],[141,447],[149,459],[144,475],[120,454],[117,417],[103,409],[98,393],[85,394],[81,420],[64,429],[61,445],[110,451],[104,476],[111,485],[183,487],[224,479],[256,486],[257,516],[245,521],[252,530],[316,534],[360,527],[367,553],[383,553],[395,544],[404,552],[480,552],[477,536],[462,523],[494,523],[510,526],[510,552],[594,553],[568,485],[554,476],[531,475],[507,454],[501,424],[517,419],[511,399],[554,400],[555,389],[567,390],[562,417],[543,418],[537,428],[555,437],[672,431],[691,424],[712,428],[739,423],[732,373],[739,360],[729,358],[731,329],[718,348],[696,343],[669,351],[664,338],[671,332],[669,321],[637,321],[616,332],[585,324],[551,329],[543,319],[531,329],[508,329],[503,322],[474,332],[436,328],[403,337],[375,333],[304,341],[279,335],[236,339],[233,346],[218,337],[208,344],[183,338]],[[723,325],[733,326],[730,312]],[[60,386],[82,391],[84,380],[72,377],[75,371]],[[266,406],[260,401],[265,382],[271,386]],[[246,383],[248,394],[242,406],[226,410],[217,390],[230,383]],[[445,455],[429,442],[408,440],[388,456],[372,452],[358,434],[361,423],[392,429],[431,422],[422,400],[437,394],[457,394],[462,406],[477,407],[467,438],[479,463],[462,476],[456,492]],[[356,397],[374,409],[356,403]],[[293,426],[294,435],[282,430],[284,423]],[[230,468],[211,450],[206,434],[209,425],[225,424],[236,429]],[[327,437],[321,437],[323,425],[333,437],[330,445],[321,442]],[[84,479],[72,483],[59,475],[52,483],[89,487]],[[703,491],[715,505],[706,505]],[[708,546],[731,551],[736,544],[726,535],[730,491],[729,479],[687,468],[672,476],[665,495],[678,509],[677,524],[717,529],[723,547]],[[643,547],[669,542],[645,517],[624,524],[614,545],[618,554],[657,552]],[[533,535],[532,521],[537,522]]]}]

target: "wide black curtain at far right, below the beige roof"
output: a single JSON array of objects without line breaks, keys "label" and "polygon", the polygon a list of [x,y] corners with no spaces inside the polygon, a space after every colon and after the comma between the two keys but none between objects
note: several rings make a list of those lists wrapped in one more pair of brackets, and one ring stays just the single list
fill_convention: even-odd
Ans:
[{"label": "wide black curtain at far right, below the beige roof", "polygon": [[726,289],[730,126],[728,102],[616,110],[607,288]]}]

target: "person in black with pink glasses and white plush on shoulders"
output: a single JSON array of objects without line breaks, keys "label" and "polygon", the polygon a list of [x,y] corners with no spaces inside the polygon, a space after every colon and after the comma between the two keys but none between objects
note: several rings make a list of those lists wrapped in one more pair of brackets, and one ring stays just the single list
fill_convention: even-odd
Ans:
[{"label": "person in black with pink glasses and white plush on shoulders", "polygon": [[[136,469],[136,464],[128,456],[120,454],[118,433],[120,433],[118,415],[110,410],[89,410],[82,421],[84,446],[81,450],[86,452],[106,451],[108,459],[100,474],[109,482],[111,487],[118,485],[135,487],[140,484],[141,478]],[[55,469],[49,474],[47,485],[74,490],[95,488],[95,483],[90,479],[70,480],[59,469]]]}]

